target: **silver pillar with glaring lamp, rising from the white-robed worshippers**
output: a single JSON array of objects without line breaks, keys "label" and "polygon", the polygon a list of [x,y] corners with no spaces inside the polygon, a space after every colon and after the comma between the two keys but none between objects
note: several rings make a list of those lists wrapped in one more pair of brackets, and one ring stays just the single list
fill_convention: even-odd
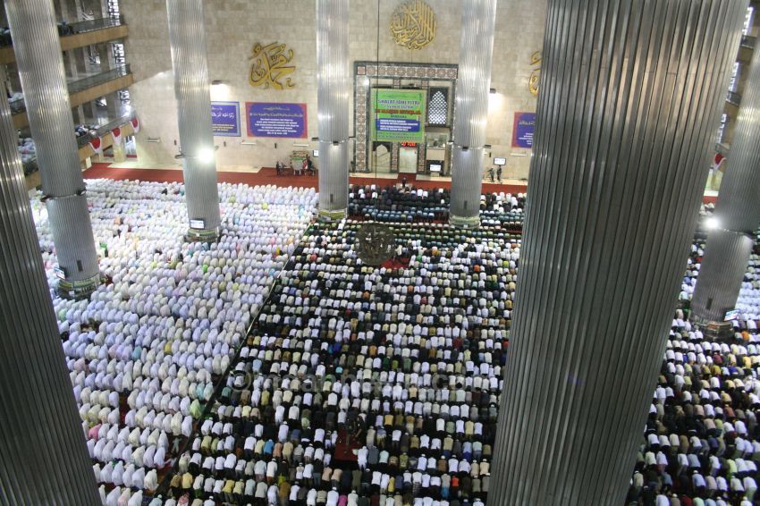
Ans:
[{"label": "silver pillar with glaring lamp, rising from the white-robed worshippers", "polygon": [[219,191],[211,130],[206,28],[203,0],[166,0],[172,46],[174,95],[180,126],[185,199],[191,240],[215,240],[219,235]]}]

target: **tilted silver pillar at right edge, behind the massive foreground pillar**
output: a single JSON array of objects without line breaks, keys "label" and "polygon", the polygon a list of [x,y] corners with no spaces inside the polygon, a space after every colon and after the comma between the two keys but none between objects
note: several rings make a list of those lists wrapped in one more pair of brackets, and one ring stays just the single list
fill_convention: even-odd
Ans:
[{"label": "tilted silver pillar at right edge, behind the massive foreground pillar", "polygon": [[705,320],[722,321],[736,306],[760,222],[760,50],[749,64],[747,86],[721,181],[691,307]]}]

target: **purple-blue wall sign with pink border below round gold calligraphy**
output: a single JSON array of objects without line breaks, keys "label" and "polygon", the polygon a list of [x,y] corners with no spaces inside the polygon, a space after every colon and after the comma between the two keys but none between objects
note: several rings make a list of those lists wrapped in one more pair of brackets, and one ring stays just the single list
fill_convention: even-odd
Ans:
[{"label": "purple-blue wall sign with pink border below round gold calligraphy", "polygon": [[306,104],[246,102],[249,137],[308,137]]}]

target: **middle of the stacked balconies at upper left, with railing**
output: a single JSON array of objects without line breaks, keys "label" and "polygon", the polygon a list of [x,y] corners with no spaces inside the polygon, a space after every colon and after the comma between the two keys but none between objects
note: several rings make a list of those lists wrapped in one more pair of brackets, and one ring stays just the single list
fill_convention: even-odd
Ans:
[{"label": "middle of the stacked balconies at upper left, with railing", "polygon": [[[120,65],[114,69],[91,75],[86,78],[71,80],[68,83],[69,100],[72,107],[82,105],[98,97],[104,97],[109,93],[125,89],[134,83],[129,63]],[[13,100],[11,103],[11,113],[13,114],[13,127],[19,130],[29,125],[29,118],[26,114],[26,105],[23,98]]]}]

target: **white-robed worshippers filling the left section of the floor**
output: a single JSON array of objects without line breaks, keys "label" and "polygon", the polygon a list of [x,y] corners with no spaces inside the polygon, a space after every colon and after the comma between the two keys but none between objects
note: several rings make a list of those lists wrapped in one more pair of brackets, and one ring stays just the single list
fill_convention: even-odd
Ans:
[{"label": "white-robed worshippers filling the left section of the floor", "polygon": [[[99,267],[89,299],[54,298],[101,499],[140,504],[204,412],[312,219],[307,189],[220,184],[222,236],[186,242],[178,183],[88,181]],[[46,210],[31,199],[55,285]]]}]

